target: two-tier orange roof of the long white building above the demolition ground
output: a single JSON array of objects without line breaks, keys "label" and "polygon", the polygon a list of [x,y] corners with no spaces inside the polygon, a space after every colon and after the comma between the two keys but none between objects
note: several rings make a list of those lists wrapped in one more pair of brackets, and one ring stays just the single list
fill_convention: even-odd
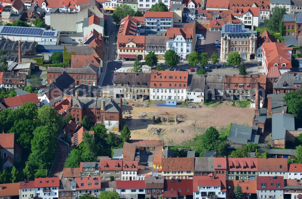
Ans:
[{"label": "two-tier orange roof of the long white building above the demolition ground", "polygon": [[[158,75],[157,75],[157,73],[158,73]],[[150,87],[152,87],[152,88],[184,88],[185,89],[188,86],[188,75],[189,75],[188,71],[184,72],[184,71],[152,70]],[[172,76],[172,79],[169,78],[170,76]],[[161,84],[161,86],[160,86],[160,84]],[[171,86],[170,86],[170,84],[171,84]],[[181,86],[179,86],[179,84]]]}]

